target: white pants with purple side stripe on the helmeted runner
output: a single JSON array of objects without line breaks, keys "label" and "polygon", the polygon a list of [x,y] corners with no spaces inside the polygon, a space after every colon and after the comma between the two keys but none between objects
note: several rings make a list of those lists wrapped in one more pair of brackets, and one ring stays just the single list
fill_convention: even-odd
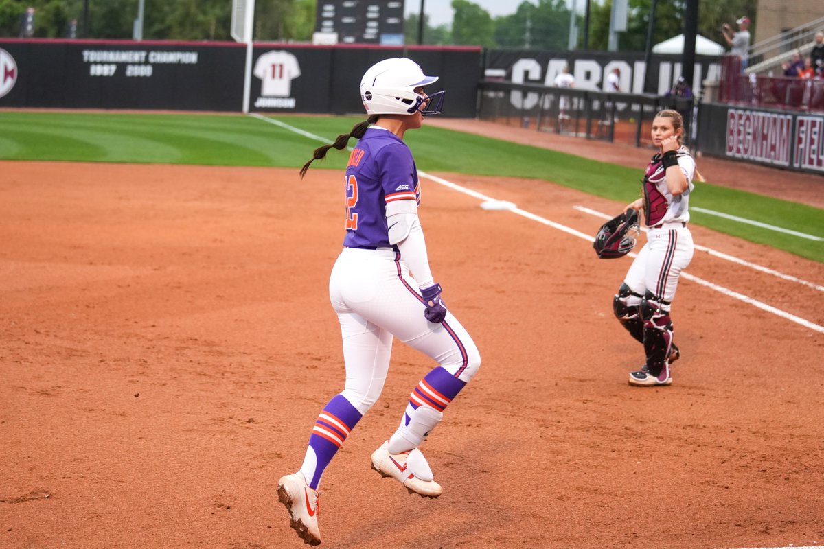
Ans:
[{"label": "white pants with purple side stripe on the helmeted runner", "polygon": [[[344,343],[341,394],[361,414],[381,395],[394,337],[461,381],[469,382],[480,367],[475,342],[452,313],[439,324],[424,318],[418,285],[399,257],[391,249],[344,248],[330,276],[330,300]],[[445,301],[448,306],[448,293]]]}]

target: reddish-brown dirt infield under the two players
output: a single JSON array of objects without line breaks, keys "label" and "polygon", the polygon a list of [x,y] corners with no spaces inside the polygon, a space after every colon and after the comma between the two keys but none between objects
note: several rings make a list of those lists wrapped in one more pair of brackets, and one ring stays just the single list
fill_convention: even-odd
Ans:
[{"label": "reddish-brown dirt infield under the two players", "polygon": [[[303,547],[275,487],[344,380],[340,174],[0,170],[0,547]],[[574,205],[621,206],[438,175],[585,234],[602,221]],[[424,447],[445,489],[424,500],[369,468],[433,367],[396,344],[325,474],[322,547],[824,544],[821,333],[683,281],[674,384],[629,387],[642,351],[611,312],[628,258],[423,184],[433,273],[483,365]],[[820,263],[693,233],[824,284]],[[700,252],[688,272],[824,324],[809,286]]]}]

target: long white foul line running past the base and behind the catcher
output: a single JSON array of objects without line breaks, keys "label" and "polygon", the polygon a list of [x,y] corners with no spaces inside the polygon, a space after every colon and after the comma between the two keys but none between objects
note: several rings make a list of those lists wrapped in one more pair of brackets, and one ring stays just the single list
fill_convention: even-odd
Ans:
[{"label": "long white foul line running past the base and behind the catcher", "polygon": [[[250,116],[254,116],[256,119],[263,120],[264,122],[273,123],[274,125],[279,126],[280,128],[288,129],[289,131],[292,131],[294,133],[299,133],[300,135],[302,135],[304,137],[309,137],[310,139],[314,139],[316,141],[330,142],[325,137],[321,137],[321,136],[316,135],[314,133],[305,132],[302,129],[295,128],[294,126],[290,126],[288,123],[283,123],[279,120],[268,119],[265,116],[260,116],[260,114],[250,114]],[[351,147],[347,147],[347,148],[351,148]],[[453,190],[456,190],[459,193],[468,194],[471,197],[478,198],[478,199],[483,200],[483,201],[496,201],[495,198],[488,197],[485,194],[478,193],[477,191],[473,191],[470,188],[461,187],[461,185],[454,184],[451,181],[447,181],[446,179],[439,178],[435,175],[427,174],[424,171],[418,170],[418,174],[419,174],[419,176],[425,177],[426,179],[430,179],[430,180],[434,181],[437,184],[441,184],[445,187],[452,188]],[[559,223],[556,223],[555,221],[550,221],[550,220],[546,219],[545,217],[536,216],[536,214],[526,212],[526,211],[522,210],[521,208],[513,207],[513,208],[510,208],[509,211],[513,212],[513,213],[516,213],[519,216],[527,217],[527,219],[531,219],[532,221],[538,221],[539,223],[542,223],[543,225],[550,226],[553,229],[564,231],[565,233],[568,233],[569,235],[578,236],[578,238],[581,238],[583,240],[587,240],[588,242],[592,242],[592,240],[594,240],[592,238],[592,235],[587,235],[585,233],[582,233],[579,230],[575,230],[575,229],[572,229],[568,226],[561,225]],[[629,254],[629,255],[630,255],[630,257],[635,257],[635,254]],[[717,284],[714,284],[713,282],[705,281],[705,280],[703,280],[699,277],[694,277],[690,274],[687,274],[686,272],[682,272],[681,276],[685,277],[687,280],[698,282],[702,286],[707,286],[707,287],[711,288],[714,291],[718,291],[718,292],[722,293],[723,295],[728,295],[729,297],[733,297],[734,299],[742,300],[744,303],[754,305],[754,306],[758,307],[759,309],[763,309],[763,310],[765,310],[769,313],[776,314],[776,315],[780,316],[783,319],[788,319],[788,320],[790,320],[794,323],[801,324],[805,328],[810,328],[810,329],[812,329],[816,332],[824,333],[824,326],[819,326],[816,323],[812,323],[809,320],[805,320],[805,319],[802,319],[800,317],[797,317],[794,314],[789,314],[789,313],[787,313],[787,312],[785,312],[781,309],[776,309],[772,305],[767,305],[765,303],[762,303],[759,300],[754,300],[751,297],[748,297],[747,295],[739,294],[737,291],[728,290],[728,288],[725,288],[723,286],[719,286]]]}]

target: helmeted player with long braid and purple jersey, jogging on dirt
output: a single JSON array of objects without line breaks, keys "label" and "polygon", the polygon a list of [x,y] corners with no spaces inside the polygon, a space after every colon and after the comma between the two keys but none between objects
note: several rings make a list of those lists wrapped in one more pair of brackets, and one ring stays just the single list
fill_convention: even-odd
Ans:
[{"label": "helmeted player with long braid and purple jersey, jogging on dirt", "polygon": [[300,470],[282,477],[278,486],[292,528],[311,545],[321,542],[321,477],[380,396],[393,339],[438,363],[412,390],[395,433],[372,453],[372,468],[410,493],[441,495],[418,447],[480,367],[475,343],[447,310],[441,286],[433,280],[418,219],[418,172],[403,142],[405,131],[420,128],[424,115],[440,113],[443,91],[428,96],[423,90],[437,80],[407,58],[370,67],[360,86],[368,120],[316,149],[311,160],[323,158],[331,147],[343,149],[349,137],[359,139],[344,177],[344,249],[329,281],[343,336],[346,382],[317,417]]}]

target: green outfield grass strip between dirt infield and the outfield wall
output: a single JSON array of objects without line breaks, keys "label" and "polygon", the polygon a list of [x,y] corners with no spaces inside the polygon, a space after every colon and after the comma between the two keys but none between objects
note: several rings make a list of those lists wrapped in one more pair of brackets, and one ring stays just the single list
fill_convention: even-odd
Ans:
[{"label": "green outfield grass strip between dirt infield and the outfield wall", "polygon": [[[363,119],[273,117],[332,139]],[[86,114],[0,112],[0,159],[251,165],[299,168],[320,142],[241,114]],[[424,127],[407,133],[420,170],[541,179],[620,202],[639,194],[638,169],[583,159],[470,133]],[[354,145],[355,140],[350,142]],[[313,169],[342,169],[348,153],[330,151]],[[777,174],[778,175],[778,174]],[[710,175],[711,177],[711,175]],[[824,237],[824,210],[698,184],[691,204]],[[528,209],[528,204],[520,206]],[[692,212],[693,221],[729,235],[824,263],[824,241],[803,239]]]}]

